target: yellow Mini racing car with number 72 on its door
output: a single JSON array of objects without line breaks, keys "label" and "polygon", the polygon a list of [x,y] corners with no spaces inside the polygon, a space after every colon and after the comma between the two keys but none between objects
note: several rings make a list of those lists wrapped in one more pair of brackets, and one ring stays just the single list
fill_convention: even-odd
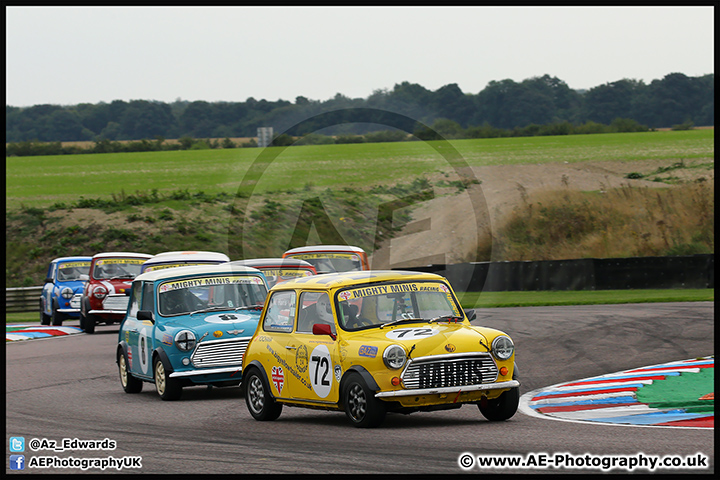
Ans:
[{"label": "yellow Mini racing car with number 72 on its door", "polygon": [[512,417],[519,386],[505,333],[471,325],[447,280],[431,273],[362,271],[275,285],[243,358],[256,420],[283,405],[344,411],[357,427],[387,412],[476,404]]}]

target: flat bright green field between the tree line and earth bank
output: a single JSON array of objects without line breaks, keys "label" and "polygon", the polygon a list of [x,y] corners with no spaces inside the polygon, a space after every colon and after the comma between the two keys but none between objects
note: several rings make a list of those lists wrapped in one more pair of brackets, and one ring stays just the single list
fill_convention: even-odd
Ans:
[{"label": "flat bright green field between the tree line and earth bank", "polygon": [[[715,131],[688,130],[552,137],[452,140],[470,166],[713,158]],[[378,182],[406,183],[453,167],[438,142],[393,142],[58,155],[6,158],[6,208],[50,206],[85,198],[178,189],[236,193],[250,165],[266,153],[279,153],[263,171],[255,193],[297,191]],[[277,149],[277,150],[273,150]]]}]

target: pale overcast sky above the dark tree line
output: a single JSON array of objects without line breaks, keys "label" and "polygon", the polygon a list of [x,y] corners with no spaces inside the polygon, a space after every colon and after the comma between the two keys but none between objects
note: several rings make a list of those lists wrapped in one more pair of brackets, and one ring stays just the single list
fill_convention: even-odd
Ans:
[{"label": "pale overcast sky above the dark tree line", "polygon": [[6,104],[244,102],[714,73],[713,7],[6,7]]}]

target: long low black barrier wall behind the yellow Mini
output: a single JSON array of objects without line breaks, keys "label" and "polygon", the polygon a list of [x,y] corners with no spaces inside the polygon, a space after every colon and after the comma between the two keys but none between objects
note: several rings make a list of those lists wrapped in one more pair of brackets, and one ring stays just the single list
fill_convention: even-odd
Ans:
[{"label": "long low black barrier wall behind the yellow Mini", "polygon": [[468,292],[715,288],[715,254],[473,262],[404,268],[447,278]]}]

